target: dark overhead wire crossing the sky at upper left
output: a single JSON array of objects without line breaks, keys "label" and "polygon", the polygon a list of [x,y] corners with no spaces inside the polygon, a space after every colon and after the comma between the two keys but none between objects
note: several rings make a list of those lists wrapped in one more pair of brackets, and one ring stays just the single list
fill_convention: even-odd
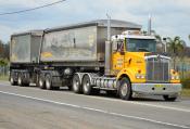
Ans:
[{"label": "dark overhead wire crossing the sky at upper left", "polygon": [[31,9],[21,10],[21,11],[0,13],[0,16],[2,16],[2,15],[12,15],[12,14],[17,14],[17,13],[25,13],[25,12],[29,12],[29,11],[34,11],[34,10],[39,10],[39,9],[51,7],[51,5],[54,5],[54,4],[64,2],[64,1],[66,1],[66,0],[60,0],[60,1],[56,1],[56,2],[48,3],[48,4],[45,4],[45,5],[31,8]]}]

